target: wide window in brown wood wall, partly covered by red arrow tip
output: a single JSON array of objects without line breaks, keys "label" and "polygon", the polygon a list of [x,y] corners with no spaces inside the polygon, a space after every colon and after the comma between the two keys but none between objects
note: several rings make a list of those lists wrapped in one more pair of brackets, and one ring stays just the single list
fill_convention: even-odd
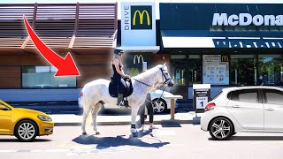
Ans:
[{"label": "wide window in brown wood wall, partly covered by red arrow tip", "polygon": [[76,77],[54,77],[57,68],[54,66],[23,66],[22,87],[25,88],[55,88],[76,87]]}]

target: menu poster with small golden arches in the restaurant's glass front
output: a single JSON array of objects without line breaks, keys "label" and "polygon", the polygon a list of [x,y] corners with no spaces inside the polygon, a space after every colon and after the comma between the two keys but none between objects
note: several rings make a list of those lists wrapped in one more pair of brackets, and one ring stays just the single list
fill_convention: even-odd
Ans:
[{"label": "menu poster with small golden arches in the restaurant's glass front", "polygon": [[229,85],[229,59],[221,55],[203,55],[203,83]]}]

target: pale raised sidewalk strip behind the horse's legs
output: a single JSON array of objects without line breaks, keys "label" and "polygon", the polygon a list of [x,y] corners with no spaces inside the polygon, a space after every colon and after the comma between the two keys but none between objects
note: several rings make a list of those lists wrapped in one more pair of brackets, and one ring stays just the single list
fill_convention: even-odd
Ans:
[{"label": "pale raised sidewalk strip behind the horse's legs", "polygon": [[[202,114],[197,114],[195,117],[195,112],[180,112],[175,114],[175,119],[172,120],[170,114],[165,115],[155,115],[154,124],[156,125],[170,125],[170,124],[199,124],[200,117]],[[82,116],[72,115],[72,114],[62,114],[62,115],[50,115],[56,126],[64,125],[81,125]],[[140,117],[137,117],[137,121]],[[147,119],[148,120],[148,119]],[[87,121],[91,121],[91,116],[88,116]],[[137,122],[138,123],[138,122]],[[111,116],[111,115],[98,115],[97,125],[130,125],[131,116]],[[149,124],[149,121],[146,121]]]}]

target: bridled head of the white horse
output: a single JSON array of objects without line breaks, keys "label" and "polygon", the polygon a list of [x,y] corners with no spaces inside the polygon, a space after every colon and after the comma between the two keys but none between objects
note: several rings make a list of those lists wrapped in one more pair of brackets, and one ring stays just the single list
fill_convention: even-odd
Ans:
[{"label": "bridled head of the white horse", "polygon": [[166,63],[162,65],[160,64],[157,67],[160,70],[160,76],[159,76],[160,78],[158,78],[158,82],[162,83],[164,87],[172,87],[174,85],[174,82],[170,77]]}]

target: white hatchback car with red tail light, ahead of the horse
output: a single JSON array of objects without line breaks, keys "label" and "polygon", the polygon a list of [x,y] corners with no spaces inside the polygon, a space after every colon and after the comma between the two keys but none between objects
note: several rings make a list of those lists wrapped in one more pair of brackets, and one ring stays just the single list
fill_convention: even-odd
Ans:
[{"label": "white hatchback car with red tail light, ahead of the horse", "polygon": [[214,140],[240,132],[283,133],[283,89],[279,87],[224,88],[208,102],[201,128]]}]

